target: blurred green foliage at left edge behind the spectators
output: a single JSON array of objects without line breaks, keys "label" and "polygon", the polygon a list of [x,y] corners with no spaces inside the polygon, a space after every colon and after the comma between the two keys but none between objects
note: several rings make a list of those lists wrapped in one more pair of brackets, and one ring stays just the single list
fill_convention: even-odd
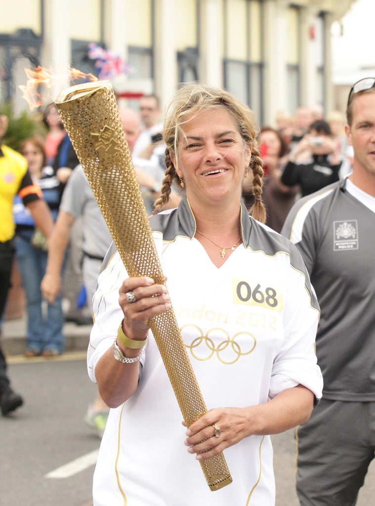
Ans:
[{"label": "blurred green foliage at left edge behind the spectators", "polygon": [[8,117],[8,129],[5,133],[2,144],[19,151],[21,143],[32,135],[46,135],[46,129],[41,122],[40,112],[29,114],[26,110],[19,116],[15,116],[11,102],[0,104],[0,114]]}]

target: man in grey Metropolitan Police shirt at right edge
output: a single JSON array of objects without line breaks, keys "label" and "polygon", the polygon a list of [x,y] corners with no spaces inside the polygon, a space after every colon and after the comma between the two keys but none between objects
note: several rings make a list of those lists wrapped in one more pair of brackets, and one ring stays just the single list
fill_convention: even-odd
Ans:
[{"label": "man in grey Metropolitan Police shirt at right edge", "polygon": [[352,87],[353,172],[291,209],[281,233],[300,249],[321,309],[323,398],[297,432],[301,506],[353,506],[375,450],[375,78]]}]

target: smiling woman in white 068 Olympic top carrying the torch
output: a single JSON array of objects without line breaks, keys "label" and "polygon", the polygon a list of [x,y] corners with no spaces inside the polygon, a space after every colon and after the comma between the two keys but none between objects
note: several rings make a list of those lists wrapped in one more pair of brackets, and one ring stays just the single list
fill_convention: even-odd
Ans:
[{"label": "smiling woman in white 068 Olympic top carrying the torch", "polygon": [[[94,297],[89,374],[112,408],[94,476],[94,505],[274,504],[270,435],[304,423],[321,397],[314,353],[319,308],[298,250],[265,227],[252,111],[191,83],[164,123],[178,208],[150,218],[166,284],[129,277],[108,251]],[[241,204],[253,172],[255,204]],[[209,410],[181,424],[149,320],[173,304]],[[168,339],[168,337],[166,338]],[[233,483],[212,493],[198,461],[224,451]]]}]

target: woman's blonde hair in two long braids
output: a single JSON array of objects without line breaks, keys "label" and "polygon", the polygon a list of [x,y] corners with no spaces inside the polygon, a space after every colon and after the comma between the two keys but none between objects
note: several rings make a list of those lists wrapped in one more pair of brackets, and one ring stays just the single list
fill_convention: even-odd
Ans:
[{"label": "woman's blonde hair in two long braids", "polygon": [[253,111],[232,93],[203,85],[199,82],[191,82],[183,85],[169,103],[166,109],[163,139],[165,149],[165,176],[161,187],[161,196],[155,202],[158,211],[169,201],[173,181],[180,184],[180,178],[172,162],[171,153],[177,155],[180,136],[183,135],[183,125],[188,117],[197,116],[200,112],[210,109],[224,109],[229,112],[235,121],[244,143],[252,144],[252,158],[249,169],[253,171],[253,193],[255,203],[249,214],[256,220],[266,221],[266,210],[262,202],[263,187],[263,161],[259,155],[258,136],[259,128],[256,124]]}]

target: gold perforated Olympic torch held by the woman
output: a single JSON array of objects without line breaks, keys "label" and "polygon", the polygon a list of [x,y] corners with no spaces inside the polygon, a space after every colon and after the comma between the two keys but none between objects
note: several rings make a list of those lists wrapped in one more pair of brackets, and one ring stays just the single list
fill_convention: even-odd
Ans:
[{"label": "gold perforated Olympic torch held by the woman", "polygon": [[[151,227],[126,142],[116,99],[107,81],[68,88],[56,99],[78,159],[129,276],[164,284]],[[207,412],[171,308],[150,328],[187,427]],[[224,455],[200,461],[211,490],[232,482]]]}]

